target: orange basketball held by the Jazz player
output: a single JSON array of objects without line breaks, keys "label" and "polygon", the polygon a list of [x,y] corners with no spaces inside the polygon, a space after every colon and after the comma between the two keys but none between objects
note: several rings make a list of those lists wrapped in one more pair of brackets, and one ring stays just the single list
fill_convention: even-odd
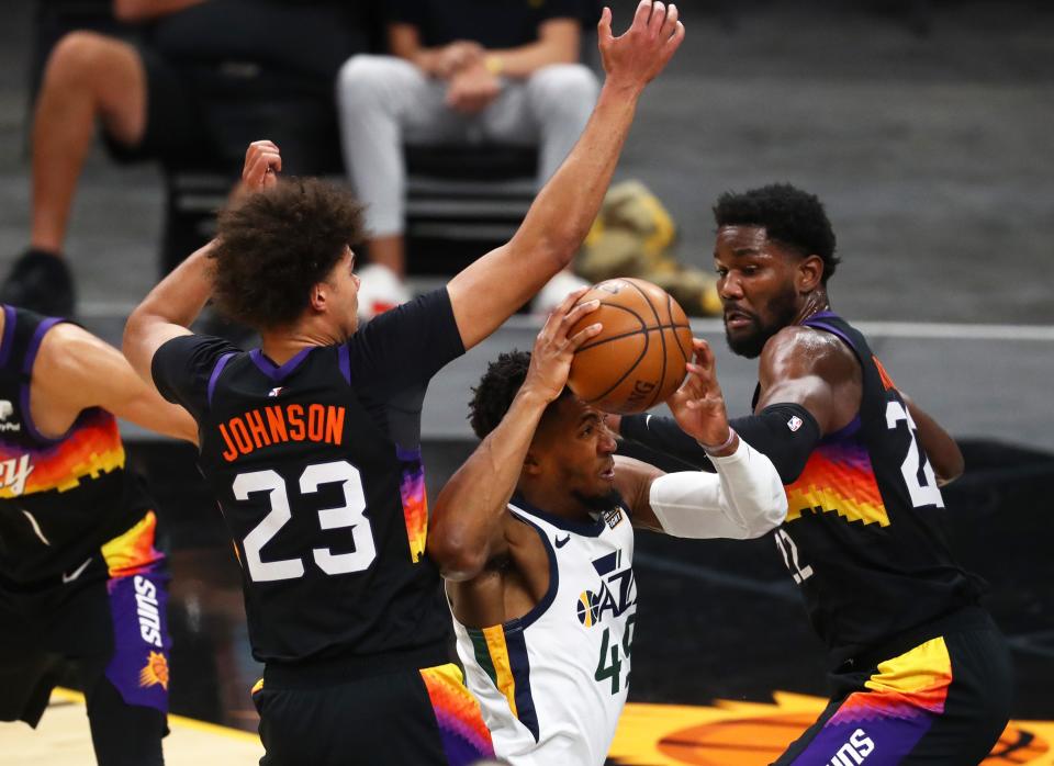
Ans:
[{"label": "orange basketball held by the Jazz player", "polygon": [[612,279],[579,303],[598,300],[569,336],[601,323],[604,329],[574,354],[568,385],[583,402],[608,413],[642,413],[664,402],[692,358],[692,328],[684,311],[651,282]]}]

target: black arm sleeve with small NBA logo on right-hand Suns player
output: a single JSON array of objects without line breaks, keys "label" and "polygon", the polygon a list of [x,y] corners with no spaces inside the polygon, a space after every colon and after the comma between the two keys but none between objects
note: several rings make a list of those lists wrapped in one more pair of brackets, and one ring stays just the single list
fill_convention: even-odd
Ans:
[{"label": "black arm sleeve with small NBA logo on right-hand Suns player", "polygon": [[[741,439],[772,461],[784,484],[801,475],[821,438],[816,418],[798,404],[769,405],[756,415],[733,418],[729,425]],[[714,470],[706,450],[682,431],[673,418],[627,415],[623,417],[621,433],[702,471]]]}]

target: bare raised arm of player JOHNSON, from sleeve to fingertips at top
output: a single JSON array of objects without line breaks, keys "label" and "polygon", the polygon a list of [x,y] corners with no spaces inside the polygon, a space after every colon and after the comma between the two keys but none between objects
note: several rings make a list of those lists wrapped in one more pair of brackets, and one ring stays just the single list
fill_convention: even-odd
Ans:
[{"label": "bare raised arm of player JOHNSON, from sleeve to fingertips at top", "polygon": [[466,349],[491,335],[571,262],[599,211],[637,101],[683,38],[675,5],[642,0],[620,37],[612,35],[612,12],[604,10],[599,46],[607,80],[582,137],[515,236],[447,286]]}]

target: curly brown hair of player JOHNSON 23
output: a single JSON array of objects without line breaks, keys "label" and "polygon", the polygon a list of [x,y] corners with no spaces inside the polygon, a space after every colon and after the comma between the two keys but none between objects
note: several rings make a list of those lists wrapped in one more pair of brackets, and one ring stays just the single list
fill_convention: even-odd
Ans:
[{"label": "curly brown hair of player JOHNSON 23", "polygon": [[307,308],[312,286],[362,236],[362,206],[347,189],[283,179],[220,214],[213,301],[250,327],[290,325]]}]

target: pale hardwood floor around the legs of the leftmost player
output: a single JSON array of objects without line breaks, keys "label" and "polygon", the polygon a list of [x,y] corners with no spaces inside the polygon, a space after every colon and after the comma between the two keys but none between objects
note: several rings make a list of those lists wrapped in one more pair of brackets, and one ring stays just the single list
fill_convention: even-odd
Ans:
[{"label": "pale hardwood floor around the legs of the leftmost player", "polygon": [[[264,747],[256,734],[169,716],[171,733],[165,737],[167,766],[259,762]],[[85,698],[55,689],[36,730],[22,723],[0,723],[0,766],[86,766],[96,763],[85,712]]]}]

